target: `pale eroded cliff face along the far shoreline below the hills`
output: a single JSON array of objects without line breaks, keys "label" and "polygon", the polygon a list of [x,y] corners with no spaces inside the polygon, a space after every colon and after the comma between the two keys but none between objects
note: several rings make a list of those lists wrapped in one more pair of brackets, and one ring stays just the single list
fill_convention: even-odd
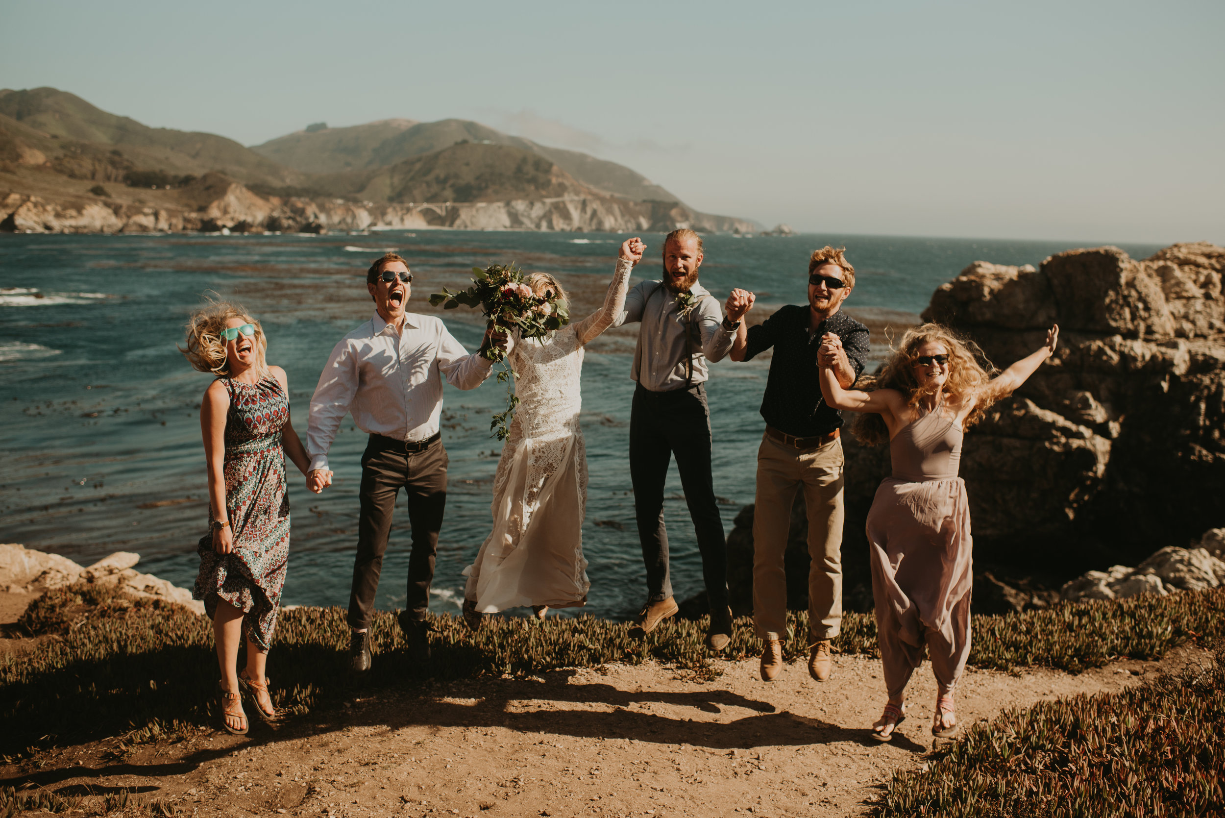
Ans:
[{"label": "pale eroded cliff face along the far shoreline below the hills", "polygon": [[[207,174],[160,206],[85,196],[0,193],[9,233],[323,233],[330,230],[543,230],[752,233],[751,222],[698,213],[677,202],[635,202],[598,193],[501,202],[394,204],[260,196]],[[178,201],[175,201],[178,200]]]}]

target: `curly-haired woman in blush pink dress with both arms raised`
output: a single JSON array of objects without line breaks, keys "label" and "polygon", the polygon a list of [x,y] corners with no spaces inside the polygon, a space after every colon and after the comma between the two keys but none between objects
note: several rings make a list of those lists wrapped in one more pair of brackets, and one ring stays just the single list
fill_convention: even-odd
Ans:
[{"label": "curly-haired woman in blush pink dress with both arms raised", "polygon": [[[822,339],[821,392],[835,409],[871,413],[856,419],[856,437],[889,442],[893,476],[867,514],[872,596],[889,699],[872,736],[889,741],[905,718],[905,687],[931,656],[938,693],[931,732],[957,732],[953,688],[970,653],[973,583],[970,512],[958,476],[964,430],[993,402],[1011,394],[1055,353],[1060,328],[1046,344],[996,377],[967,342],[927,323],[907,332],[871,391],[843,389],[824,366],[840,343]],[[989,365],[990,366],[990,365]]]}]

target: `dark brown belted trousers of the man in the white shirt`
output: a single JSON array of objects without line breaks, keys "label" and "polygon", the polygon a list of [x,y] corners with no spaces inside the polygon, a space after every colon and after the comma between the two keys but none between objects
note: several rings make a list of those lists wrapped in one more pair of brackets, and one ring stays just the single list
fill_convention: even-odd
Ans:
[{"label": "dark brown belted trousers of the man in the white shirt", "polygon": [[374,618],[391,516],[402,487],[408,495],[408,522],[413,527],[404,609],[410,618],[424,620],[430,605],[439,529],[447,505],[447,451],[436,440],[423,452],[405,452],[403,442],[371,435],[361,456],[361,518],[349,594],[349,626],[354,629],[369,628]]}]

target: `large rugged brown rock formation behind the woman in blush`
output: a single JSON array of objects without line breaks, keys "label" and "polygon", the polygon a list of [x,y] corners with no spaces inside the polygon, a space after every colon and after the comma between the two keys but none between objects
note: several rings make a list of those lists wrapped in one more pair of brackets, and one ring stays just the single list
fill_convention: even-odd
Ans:
[{"label": "large rugged brown rock formation behind the woman in blush", "polygon": [[[1055,358],[965,438],[975,558],[1063,578],[1185,546],[1225,523],[1225,249],[1180,244],[1134,261],[1072,250],[1039,269],[976,262],[924,318],[1003,367],[1060,325]],[[849,436],[848,541],[884,448]]]}]

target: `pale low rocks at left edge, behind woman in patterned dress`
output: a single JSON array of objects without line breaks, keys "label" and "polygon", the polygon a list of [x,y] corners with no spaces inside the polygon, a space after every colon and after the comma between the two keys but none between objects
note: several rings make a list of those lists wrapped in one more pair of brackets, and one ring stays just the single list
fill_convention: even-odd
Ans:
[{"label": "pale low rocks at left edge, behind woman in patterned dress", "polygon": [[153,574],[132,568],[141,555],[116,551],[87,568],[58,553],[34,551],[22,545],[0,544],[0,591],[42,594],[74,583],[118,585],[132,596],[160,599],[205,612],[205,604],[191,599],[191,591]]}]

